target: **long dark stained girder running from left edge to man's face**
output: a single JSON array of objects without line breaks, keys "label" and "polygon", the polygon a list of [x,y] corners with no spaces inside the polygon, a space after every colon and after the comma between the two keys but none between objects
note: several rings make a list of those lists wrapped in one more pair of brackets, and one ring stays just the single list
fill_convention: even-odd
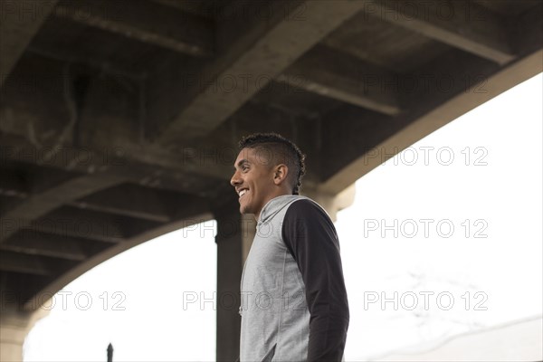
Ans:
[{"label": "long dark stained girder running from left edge to man's face", "polygon": [[186,147],[178,154],[157,147],[115,146],[100,149],[33,145],[26,138],[0,132],[0,162],[23,162],[83,175],[107,173],[134,184],[206,196],[232,176],[237,150],[214,145]]}]

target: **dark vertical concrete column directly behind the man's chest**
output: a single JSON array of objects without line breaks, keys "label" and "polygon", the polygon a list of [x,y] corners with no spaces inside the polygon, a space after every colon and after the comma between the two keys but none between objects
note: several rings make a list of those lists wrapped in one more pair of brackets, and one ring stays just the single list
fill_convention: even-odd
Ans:
[{"label": "dark vertical concrete column directly behind the man's chest", "polygon": [[214,207],[217,221],[217,361],[240,353],[240,281],[255,233],[253,215],[241,215],[236,199]]}]

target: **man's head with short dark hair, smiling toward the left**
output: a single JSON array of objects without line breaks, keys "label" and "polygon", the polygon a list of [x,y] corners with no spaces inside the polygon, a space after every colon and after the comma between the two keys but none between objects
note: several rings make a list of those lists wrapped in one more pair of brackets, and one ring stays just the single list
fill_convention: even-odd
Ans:
[{"label": "man's head with short dark hair, smiling toward the left", "polygon": [[242,214],[260,215],[279,195],[298,195],[305,174],[305,156],[289,139],[276,133],[255,133],[239,143],[230,184],[240,195]]}]

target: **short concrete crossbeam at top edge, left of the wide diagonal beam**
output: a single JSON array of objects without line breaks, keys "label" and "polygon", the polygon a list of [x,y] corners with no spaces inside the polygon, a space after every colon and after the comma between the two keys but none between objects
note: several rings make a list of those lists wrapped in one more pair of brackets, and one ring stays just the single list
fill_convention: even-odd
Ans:
[{"label": "short concrete crossbeam at top edge, left of the wide diagonal beam", "polygon": [[130,1],[129,6],[119,2],[80,0],[58,5],[53,14],[174,52],[196,57],[214,53],[211,22],[163,5],[141,0]]}]

